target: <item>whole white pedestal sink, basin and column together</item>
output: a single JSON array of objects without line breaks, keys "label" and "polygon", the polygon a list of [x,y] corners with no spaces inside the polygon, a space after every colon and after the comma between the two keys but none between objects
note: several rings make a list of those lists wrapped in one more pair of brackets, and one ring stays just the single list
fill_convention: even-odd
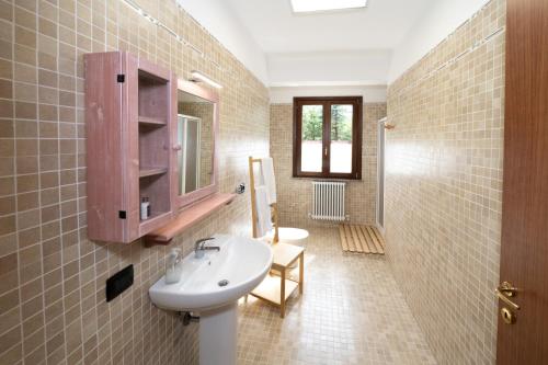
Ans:
[{"label": "whole white pedestal sink, basin and column together", "polygon": [[199,364],[236,365],[238,341],[237,300],[258,286],[272,265],[272,249],[244,237],[214,236],[206,251],[183,259],[183,274],[176,284],[160,278],[149,289],[160,308],[199,313]]}]

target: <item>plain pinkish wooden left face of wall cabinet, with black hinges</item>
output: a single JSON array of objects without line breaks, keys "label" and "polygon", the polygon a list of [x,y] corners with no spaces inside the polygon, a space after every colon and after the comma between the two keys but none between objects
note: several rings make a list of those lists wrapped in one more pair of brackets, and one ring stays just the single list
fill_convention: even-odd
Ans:
[{"label": "plain pinkish wooden left face of wall cabinet, with black hinges", "polygon": [[125,73],[122,53],[88,54],[85,68],[85,132],[88,236],[124,242],[127,206],[124,185],[122,128]]}]

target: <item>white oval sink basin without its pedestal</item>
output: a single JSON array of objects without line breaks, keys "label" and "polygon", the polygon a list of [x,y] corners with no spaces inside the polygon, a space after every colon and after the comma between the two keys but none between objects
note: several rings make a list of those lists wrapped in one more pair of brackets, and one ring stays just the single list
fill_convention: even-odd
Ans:
[{"label": "white oval sink basin without its pedestal", "polygon": [[186,255],[179,283],[165,284],[162,277],[150,287],[153,304],[178,311],[210,310],[238,300],[263,281],[272,265],[270,246],[246,237],[214,237],[206,246],[220,251],[205,251],[201,259],[194,252]]}]

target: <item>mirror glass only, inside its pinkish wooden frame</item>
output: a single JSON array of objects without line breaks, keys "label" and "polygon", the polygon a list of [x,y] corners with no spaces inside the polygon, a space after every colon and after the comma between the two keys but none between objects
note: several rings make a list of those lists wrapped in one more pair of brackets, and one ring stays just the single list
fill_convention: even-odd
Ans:
[{"label": "mirror glass only, inside its pinkish wooden frame", "polygon": [[179,195],[212,184],[215,104],[178,91]]}]

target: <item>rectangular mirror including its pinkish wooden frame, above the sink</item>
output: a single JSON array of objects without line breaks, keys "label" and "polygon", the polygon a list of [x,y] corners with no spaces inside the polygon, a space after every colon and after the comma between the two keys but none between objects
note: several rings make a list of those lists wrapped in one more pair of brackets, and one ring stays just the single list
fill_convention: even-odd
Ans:
[{"label": "rectangular mirror including its pinkish wooden frame, above the sink", "polygon": [[185,206],[217,191],[218,94],[180,80],[176,109],[174,181],[180,206]]}]

